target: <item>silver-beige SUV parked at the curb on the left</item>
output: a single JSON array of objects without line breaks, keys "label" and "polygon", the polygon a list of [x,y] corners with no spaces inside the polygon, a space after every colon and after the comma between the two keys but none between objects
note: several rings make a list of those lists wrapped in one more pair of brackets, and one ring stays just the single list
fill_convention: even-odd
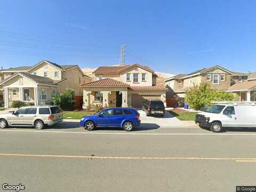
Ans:
[{"label": "silver-beige SUV parked at the curb on the left", "polygon": [[2,129],[7,126],[34,126],[41,130],[46,125],[51,126],[62,121],[62,111],[58,106],[29,106],[0,114]]}]

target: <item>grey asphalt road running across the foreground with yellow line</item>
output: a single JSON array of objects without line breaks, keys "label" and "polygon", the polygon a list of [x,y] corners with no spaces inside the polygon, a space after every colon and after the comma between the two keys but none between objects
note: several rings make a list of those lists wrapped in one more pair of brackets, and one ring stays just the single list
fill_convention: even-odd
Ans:
[{"label": "grey asphalt road running across the foreground with yellow line", "polygon": [[0,183],[25,191],[235,191],[256,185],[255,140],[256,129],[196,126],[5,129]]}]

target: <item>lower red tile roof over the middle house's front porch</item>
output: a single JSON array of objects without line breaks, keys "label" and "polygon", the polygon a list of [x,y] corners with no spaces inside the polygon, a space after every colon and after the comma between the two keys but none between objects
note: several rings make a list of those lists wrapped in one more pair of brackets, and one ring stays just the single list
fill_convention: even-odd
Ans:
[{"label": "lower red tile roof over the middle house's front porch", "polygon": [[129,87],[128,84],[116,81],[111,78],[105,78],[98,81],[85,83],[82,85],[83,87]]}]

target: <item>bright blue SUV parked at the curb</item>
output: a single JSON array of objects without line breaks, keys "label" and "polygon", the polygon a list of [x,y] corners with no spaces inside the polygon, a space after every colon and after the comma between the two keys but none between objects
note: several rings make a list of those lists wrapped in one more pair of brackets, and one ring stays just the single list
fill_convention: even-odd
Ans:
[{"label": "bright blue SUV parked at the curb", "polygon": [[131,108],[109,108],[92,116],[84,116],[80,125],[92,131],[96,127],[123,127],[125,131],[132,131],[140,126],[140,114]]}]

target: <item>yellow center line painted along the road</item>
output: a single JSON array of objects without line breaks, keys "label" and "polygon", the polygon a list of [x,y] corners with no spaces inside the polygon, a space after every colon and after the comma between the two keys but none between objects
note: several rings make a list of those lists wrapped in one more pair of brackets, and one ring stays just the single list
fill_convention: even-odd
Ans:
[{"label": "yellow center line painted along the road", "polygon": [[214,157],[111,157],[111,156],[83,156],[83,155],[37,155],[37,154],[0,154],[0,156],[17,157],[62,157],[62,158],[92,158],[92,159],[156,159],[156,160],[212,160],[212,161],[237,161],[256,162],[256,158],[214,158]]}]

